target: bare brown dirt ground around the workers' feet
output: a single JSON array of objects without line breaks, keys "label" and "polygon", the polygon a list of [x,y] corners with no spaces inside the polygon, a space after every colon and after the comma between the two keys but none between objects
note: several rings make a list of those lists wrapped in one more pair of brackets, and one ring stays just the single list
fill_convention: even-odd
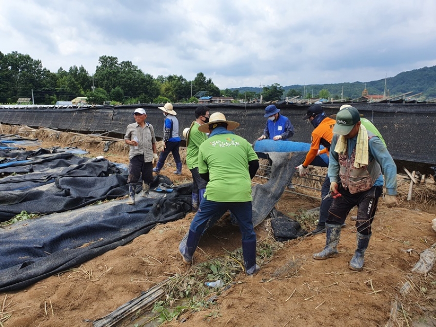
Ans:
[{"label": "bare brown dirt ground around the workers' feet", "polygon": [[[3,125],[3,133],[17,132],[7,128]],[[127,147],[122,141],[104,152],[102,140],[92,137],[47,130],[27,130],[22,134],[43,140],[43,147],[84,140],[69,146],[88,150],[90,157],[104,156],[113,162],[128,163]],[[174,183],[191,180],[186,166],[182,176],[174,175],[173,170],[174,166],[167,166],[161,173]],[[216,293],[209,309],[187,311],[163,325],[436,326],[434,268],[424,275],[411,273],[420,253],[436,243],[432,228],[436,218],[436,186],[426,179],[423,185],[415,186],[411,201],[407,201],[409,183],[399,176],[397,207],[388,209],[380,201],[362,272],[348,268],[356,231],[347,218],[338,257],[312,259],[312,254],[325,245],[325,234],[280,243],[273,256],[261,262],[259,273],[254,277],[243,273],[236,276],[229,287]],[[276,204],[277,209],[290,216],[316,206],[318,200],[291,193],[285,193]],[[108,315],[156,283],[190,269],[183,264],[177,248],[192,217],[191,213],[182,220],[158,225],[148,234],[80,267],[25,290],[1,294],[0,326],[92,326],[92,321]],[[314,222],[305,222],[304,227],[310,230]],[[258,241],[274,242],[269,219],[255,230]],[[195,264],[226,256],[240,246],[239,229],[221,222],[203,236],[195,253]],[[278,273],[290,263],[294,264],[292,274]],[[400,292],[406,282],[411,285],[409,292]]]}]

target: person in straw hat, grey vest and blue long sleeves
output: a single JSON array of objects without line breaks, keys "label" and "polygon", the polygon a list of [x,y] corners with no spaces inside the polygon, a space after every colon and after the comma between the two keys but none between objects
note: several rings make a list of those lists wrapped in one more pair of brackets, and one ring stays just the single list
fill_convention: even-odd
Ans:
[{"label": "person in straw hat, grey vest and blue long sleeves", "polygon": [[159,174],[162,167],[165,164],[170,152],[174,158],[176,171],[174,174],[182,175],[182,160],[180,159],[179,147],[180,147],[180,137],[179,137],[179,121],[175,118],[177,114],[171,103],[166,103],[163,107],[158,107],[164,112],[165,122],[164,122],[164,149],[159,155],[156,167],[153,168],[153,172]]}]

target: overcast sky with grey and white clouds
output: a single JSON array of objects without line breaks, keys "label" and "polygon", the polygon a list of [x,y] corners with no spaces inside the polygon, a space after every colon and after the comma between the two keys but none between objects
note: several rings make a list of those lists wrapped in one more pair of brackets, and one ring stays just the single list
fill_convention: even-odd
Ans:
[{"label": "overcast sky with grey and white clouds", "polygon": [[221,89],[380,80],[436,65],[435,0],[0,0],[0,51],[52,72],[101,55]]}]

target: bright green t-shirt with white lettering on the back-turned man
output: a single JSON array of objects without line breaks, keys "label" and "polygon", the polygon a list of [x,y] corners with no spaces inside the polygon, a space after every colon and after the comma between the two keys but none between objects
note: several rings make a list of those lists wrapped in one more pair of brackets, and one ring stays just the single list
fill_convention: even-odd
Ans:
[{"label": "bright green t-shirt with white lettering on the back-turned man", "polygon": [[233,133],[207,139],[199,151],[199,172],[209,172],[206,198],[215,202],[252,201],[248,162],[258,159],[251,144]]}]

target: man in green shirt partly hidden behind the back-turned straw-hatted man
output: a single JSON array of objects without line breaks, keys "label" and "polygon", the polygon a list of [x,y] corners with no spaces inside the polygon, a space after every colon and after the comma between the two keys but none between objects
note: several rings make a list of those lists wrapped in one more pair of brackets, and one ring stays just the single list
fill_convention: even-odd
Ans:
[{"label": "man in green shirt partly hidden behind the back-turned straw-hatted man", "polygon": [[207,182],[199,174],[199,148],[207,140],[207,134],[199,131],[199,127],[209,122],[209,108],[199,106],[195,109],[195,121],[191,127],[183,130],[183,136],[186,139],[186,165],[192,174],[192,210],[199,208],[201,199],[206,191]]}]

